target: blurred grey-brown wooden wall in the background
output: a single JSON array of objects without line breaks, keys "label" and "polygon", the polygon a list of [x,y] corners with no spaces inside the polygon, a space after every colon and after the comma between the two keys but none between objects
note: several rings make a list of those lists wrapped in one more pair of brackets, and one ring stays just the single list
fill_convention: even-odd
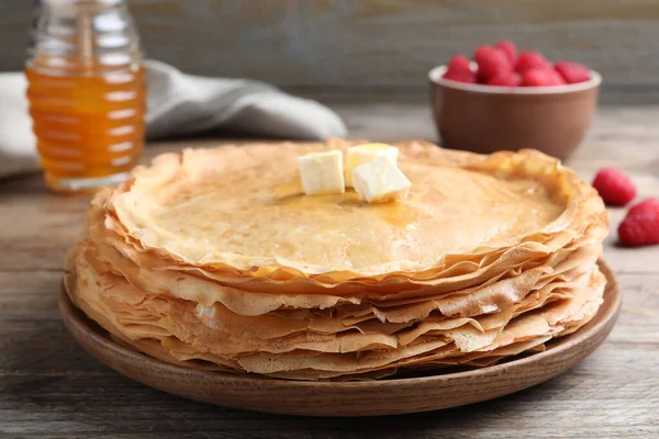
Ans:
[{"label": "blurred grey-brown wooden wall in the background", "polygon": [[[456,52],[514,40],[659,89],[659,0],[131,0],[148,57],[289,89],[414,91]],[[0,71],[22,68],[33,1],[0,0]]]}]

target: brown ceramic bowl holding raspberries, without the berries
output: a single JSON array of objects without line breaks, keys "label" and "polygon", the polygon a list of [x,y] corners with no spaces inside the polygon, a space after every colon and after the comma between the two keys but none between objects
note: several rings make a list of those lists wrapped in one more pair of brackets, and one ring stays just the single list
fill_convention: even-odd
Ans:
[{"label": "brown ceramic bowl holding raspberries, without the berries", "polygon": [[489,154],[539,149],[567,158],[585,135],[602,77],[554,87],[492,87],[444,79],[429,71],[432,104],[442,146]]}]

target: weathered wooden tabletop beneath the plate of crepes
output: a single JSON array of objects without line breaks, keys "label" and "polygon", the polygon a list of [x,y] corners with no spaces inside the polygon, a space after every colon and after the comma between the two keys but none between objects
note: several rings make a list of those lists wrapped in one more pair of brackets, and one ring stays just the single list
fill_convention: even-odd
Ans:
[{"label": "weathered wooden tabletop beneath the plate of crepes", "polygon": [[[380,140],[435,133],[424,103],[332,105],[350,136]],[[659,106],[605,105],[568,165],[587,180],[627,171],[640,196],[659,196]],[[217,139],[153,144],[147,158]],[[636,438],[659,437],[659,246],[617,247],[612,210],[605,258],[623,312],[604,345],[571,371],[500,399],[388,418],[295,418],[214,407],[115,373],[85,352],[57,313],[64,254],[88,198],[46,192],[41,177],[0,181],[0,437],[48,438]],[[370,436],[369,435],[369,436]]]}]

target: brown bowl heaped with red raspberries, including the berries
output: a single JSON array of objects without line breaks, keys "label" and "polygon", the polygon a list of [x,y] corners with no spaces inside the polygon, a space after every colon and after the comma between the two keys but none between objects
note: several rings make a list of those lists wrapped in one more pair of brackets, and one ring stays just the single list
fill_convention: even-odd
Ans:
[{"label": "brown bowl heaped with red raspberries, including the berries", "polygon": [[454,56],[428,74],[442,145],[490,154],[534,148],[565,159],[583,139],[601,76],[572,61],[517,53],[502,41]]}]

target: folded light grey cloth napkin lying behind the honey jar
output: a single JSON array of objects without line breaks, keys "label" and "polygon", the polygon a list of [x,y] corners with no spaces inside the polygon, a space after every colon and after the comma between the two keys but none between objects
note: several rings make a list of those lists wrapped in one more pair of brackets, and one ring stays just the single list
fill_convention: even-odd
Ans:
[{"label": "folded light grey cloth napkin lying behind the honey jar", "polygon": [[[343,137],[332,110],[265,82],[205,78],[147,60],[147,136],[231,130],[255,137]],[[32,121],[21,72],[0,74],[0,178],[38,169]]]}]

